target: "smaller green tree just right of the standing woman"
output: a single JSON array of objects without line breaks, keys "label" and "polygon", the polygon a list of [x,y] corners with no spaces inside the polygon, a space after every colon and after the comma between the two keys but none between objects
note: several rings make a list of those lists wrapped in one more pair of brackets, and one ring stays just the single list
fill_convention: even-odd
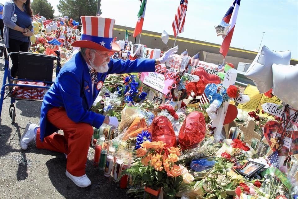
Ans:
[{"label": "smaller green tree just right of the standing woman", "polygon": [[33,10],[33,14],[44,16],[46,19],[54,18],[54,9],[47,0],[33,0],[31,3],[31,9]]}]

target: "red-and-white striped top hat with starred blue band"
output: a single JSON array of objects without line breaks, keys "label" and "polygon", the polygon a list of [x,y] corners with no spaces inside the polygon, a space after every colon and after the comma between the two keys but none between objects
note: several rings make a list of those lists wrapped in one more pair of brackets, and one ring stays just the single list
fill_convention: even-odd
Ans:
[{"label": "red-and-white striped top hat with starred blue band", "polygon": [[115,19],[81,16],[81,22],[81,40],[75,41],[72,46],[101,51],[120,51],[120,46],[113,41]]}]

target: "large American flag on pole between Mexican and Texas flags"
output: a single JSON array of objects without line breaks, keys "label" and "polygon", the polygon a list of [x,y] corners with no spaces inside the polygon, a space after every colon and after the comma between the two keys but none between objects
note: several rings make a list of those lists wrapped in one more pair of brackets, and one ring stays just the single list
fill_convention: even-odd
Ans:
[{"label": "large American flag on pole between Mexican and Texas flags", "polygon": [[180,5],[178,6],[177,13],[175,15],[175,19],[172,23],[175,37],[179,33],[182,33],[184,30],[186,11],[187,11],[187,0],[181,0]]}]

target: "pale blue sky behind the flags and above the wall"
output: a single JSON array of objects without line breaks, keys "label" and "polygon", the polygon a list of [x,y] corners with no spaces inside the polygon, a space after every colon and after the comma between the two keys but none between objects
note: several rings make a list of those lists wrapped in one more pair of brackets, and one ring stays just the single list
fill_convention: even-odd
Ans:
[{"label": "pale blue sky behind the flags and above the wall", "polygon": [[[58,14],[59,0],[50,2]],[[160,33],[165,30],[173,35],[172,21],[179,2],[147,0],[143,30]],[[231,2],[188,0],[184,32],[178,36],[221,44],[223,39],[216,36],[214,26],[219,24]],[[135,27],[140,1],[101,0],[101,4],[102,17],[114,18],[117,25]],[[231,47],[243,49],[244,46],[257,51],[262,32],[265,32],[262,45],[275,51],[291,50],[291,57],[298,59],[298,0],[242,0]]]}]

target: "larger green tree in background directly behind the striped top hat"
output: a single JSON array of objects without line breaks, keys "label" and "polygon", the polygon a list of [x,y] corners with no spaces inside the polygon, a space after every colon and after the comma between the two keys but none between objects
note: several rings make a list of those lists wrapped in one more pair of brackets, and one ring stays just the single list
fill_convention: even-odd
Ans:
[{"label": "larger green tree in background directly behind the striped top hat", "polygon": [[81,22],[81,16],[96,16],[97,0],[60,0],[58,11]]}]

